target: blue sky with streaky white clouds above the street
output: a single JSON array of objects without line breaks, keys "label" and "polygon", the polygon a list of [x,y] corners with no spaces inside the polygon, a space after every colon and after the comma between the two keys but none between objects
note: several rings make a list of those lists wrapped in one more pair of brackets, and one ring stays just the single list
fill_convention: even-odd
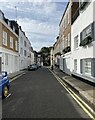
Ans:
[{"label": "blue sky with streaky white clouds above the street", "polygon": [[67,1],[62,0],[0,0],[5,17],[17,20],[31,42],[33,50],[54,44],[59,34],[59,22]]}]

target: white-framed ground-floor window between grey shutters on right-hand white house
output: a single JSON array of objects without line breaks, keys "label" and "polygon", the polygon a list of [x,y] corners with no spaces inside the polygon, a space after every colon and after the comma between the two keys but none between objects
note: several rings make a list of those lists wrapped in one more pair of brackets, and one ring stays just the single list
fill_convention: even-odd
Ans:
[{"label": "white-framed ground-floor window between grey shutters on right-hand white house", "polygon": [[84,62],[85,74],[91,75],[91,59],[86,59]]}]

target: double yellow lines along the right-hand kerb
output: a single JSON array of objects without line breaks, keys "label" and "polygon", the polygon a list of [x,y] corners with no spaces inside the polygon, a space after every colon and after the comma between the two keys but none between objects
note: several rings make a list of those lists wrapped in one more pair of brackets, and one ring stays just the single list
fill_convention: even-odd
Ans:
[{"label": "double yellow lines along the right-hand kerb", "polygon": [[80,105],[80,107],[88,114],[88,116],[95,120],[94,110],[88,106],[77,94],[75,94],[67,85],[53,72],[49,69],[49,71],[54,75],[54,77],[58,80],[58,82],[65,88],[65,90],[73,97],[73,99]]}]

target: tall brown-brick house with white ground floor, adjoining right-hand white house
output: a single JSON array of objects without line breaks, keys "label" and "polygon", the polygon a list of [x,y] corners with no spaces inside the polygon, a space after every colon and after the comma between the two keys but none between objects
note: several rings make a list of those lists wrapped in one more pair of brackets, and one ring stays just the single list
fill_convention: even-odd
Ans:
[{"label": "tall brown-brick house with white ground floor, adjoining right-hand white house", "polygon": [[59,39],[60,39],[60,70],[70,74],[70,55],[71,55],[71,5],[69,1],[63,13],[59,24]]}]

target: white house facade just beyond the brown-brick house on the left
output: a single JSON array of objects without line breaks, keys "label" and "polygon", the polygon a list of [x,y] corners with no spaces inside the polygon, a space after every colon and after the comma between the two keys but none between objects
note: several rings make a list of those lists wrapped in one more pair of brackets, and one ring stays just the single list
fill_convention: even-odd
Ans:
[{"label": "white house facade just beyond the brown-brick house on the left", "polygon": [[31,43],[19,27],[19,69],[26,69],[31,64]]}]

